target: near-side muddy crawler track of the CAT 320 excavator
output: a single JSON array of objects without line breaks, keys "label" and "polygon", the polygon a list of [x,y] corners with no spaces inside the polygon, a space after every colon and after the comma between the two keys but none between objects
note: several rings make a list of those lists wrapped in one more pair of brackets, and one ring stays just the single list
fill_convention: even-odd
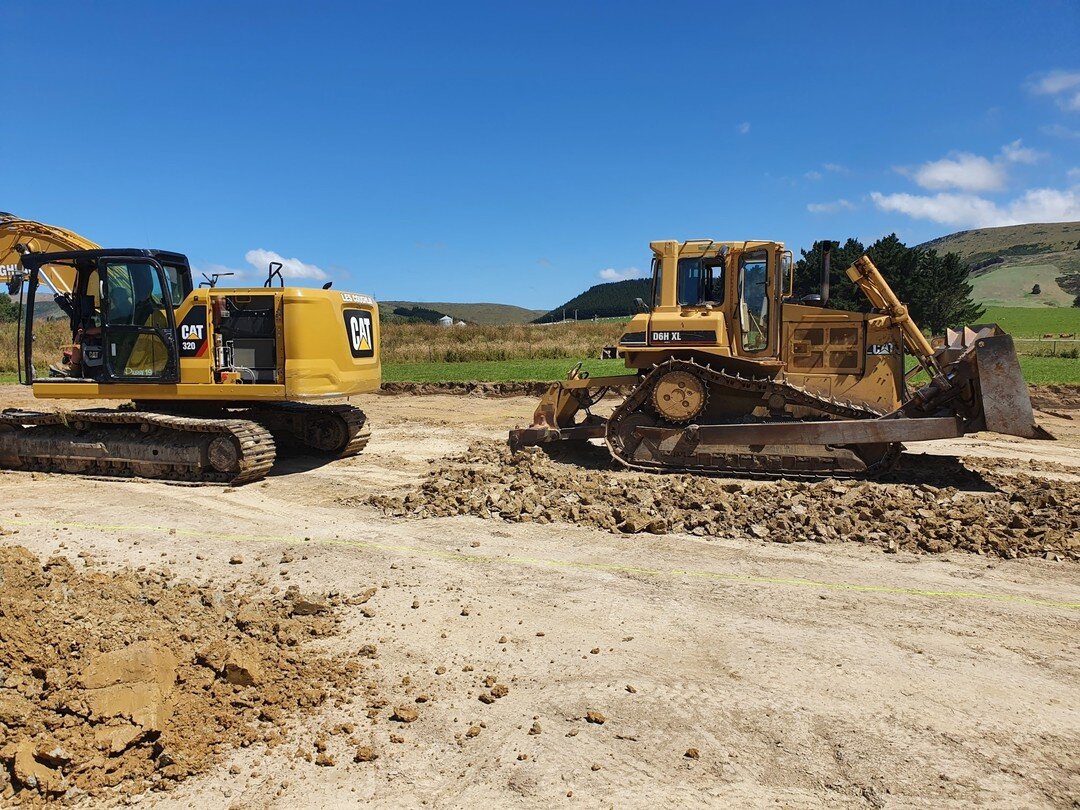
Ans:
[{"label": "near-side muddy crawler track of the CAT 320 excavator", "polygon": [[240,485],[264,477],[276,449],[249,419],[139,410],[0,413],[0,467]]}]

